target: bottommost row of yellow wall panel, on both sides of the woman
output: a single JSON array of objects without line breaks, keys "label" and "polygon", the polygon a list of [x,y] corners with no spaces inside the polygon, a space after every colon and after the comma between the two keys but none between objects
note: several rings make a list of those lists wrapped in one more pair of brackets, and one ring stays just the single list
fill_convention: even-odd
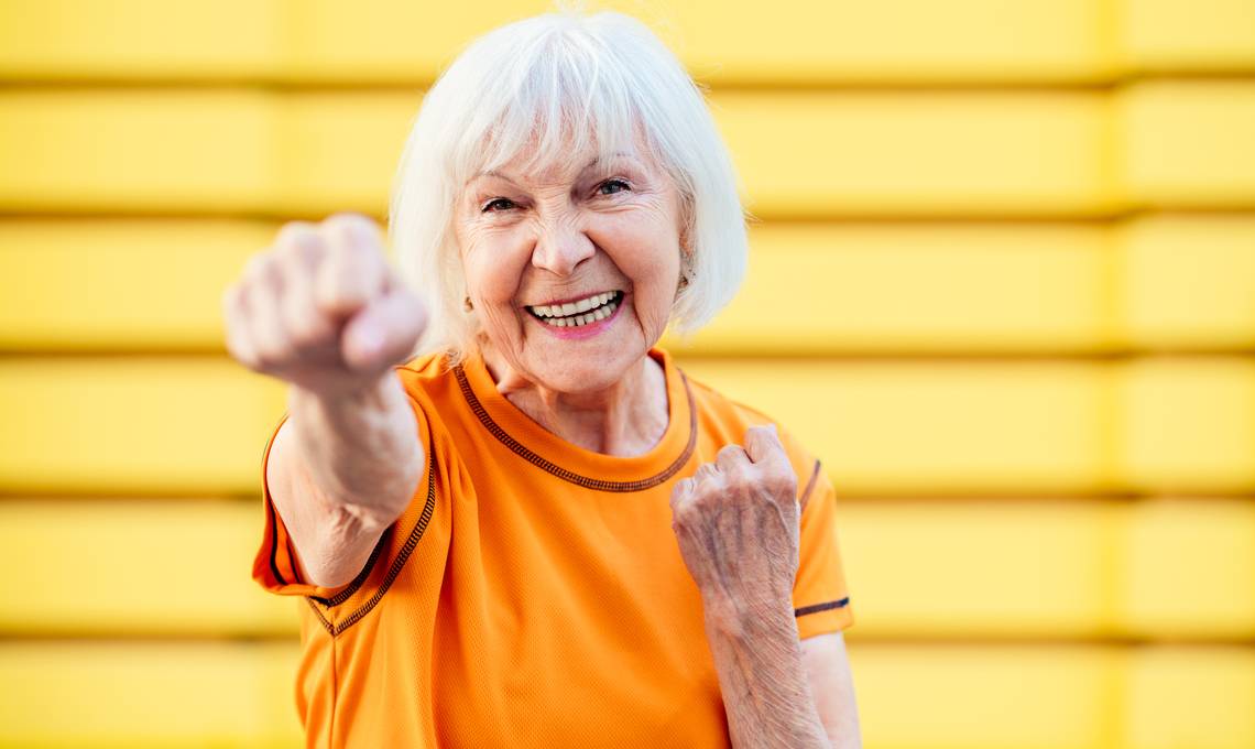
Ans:
[{"label": "bottommost row of yellow wall panel, on both sides of the woman", "polygon": [[[0,744],[295,748],[296,655],[292,645],[4,643]],[[1245,749],[1255,735],[1251,648],[868,643],[850,662],[875,749]]]}]

